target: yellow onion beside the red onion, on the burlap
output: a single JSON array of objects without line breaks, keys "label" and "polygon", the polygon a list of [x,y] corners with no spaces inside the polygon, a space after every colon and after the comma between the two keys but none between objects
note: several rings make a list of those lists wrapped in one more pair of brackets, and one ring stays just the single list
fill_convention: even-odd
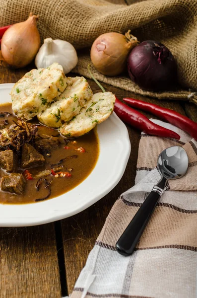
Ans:
[{"label": "yellow onion beside the red onion, on the burlap", "polygon": [[90,56],[97,71],[105,75],[118,75],[126,69],[128,55],[138,43],[130,32],[125,35],[105,33],[94,41]]}]

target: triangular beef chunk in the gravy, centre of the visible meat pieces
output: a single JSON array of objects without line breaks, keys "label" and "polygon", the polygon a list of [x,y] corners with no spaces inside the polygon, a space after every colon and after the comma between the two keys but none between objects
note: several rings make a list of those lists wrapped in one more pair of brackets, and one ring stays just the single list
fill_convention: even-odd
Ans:
[{"label": "triangular beef chunk in the gravy, centre of the visible meat pieces", "polygon": [[25,143],[22,147],[21,168],[42,166],[45,158],[33,146]]}]

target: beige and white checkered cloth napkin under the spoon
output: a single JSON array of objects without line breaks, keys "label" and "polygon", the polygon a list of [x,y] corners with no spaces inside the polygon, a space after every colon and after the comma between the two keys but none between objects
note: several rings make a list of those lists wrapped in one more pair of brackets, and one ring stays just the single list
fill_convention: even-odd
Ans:
[{"label": "beige and white checkered cloth napkin under the spoon", "polygon": [[[135,185],[114,204],[71,298],[197,297],[197,142],[173,125],[152,121],[181,140],[141,135]],[[187,174],[169,180],[135,252],[120,255],[117,240],[160,179],[159,153],[177,145],[188,153]]]}]

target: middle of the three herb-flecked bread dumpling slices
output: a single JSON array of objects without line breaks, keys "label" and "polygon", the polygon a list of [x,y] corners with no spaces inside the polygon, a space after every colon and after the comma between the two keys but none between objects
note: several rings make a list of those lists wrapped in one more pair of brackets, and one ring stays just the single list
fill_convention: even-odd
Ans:
[{"label": "middle of the three herb-flecked bread dumpling slices", "polygon": [[81,108],[92,98],[92,90],[83,76],[67,77],[67,87],[63,93],[49,104],[44,112],[37,115],[38,120],[52,128],[59,128],[76,116]]}]

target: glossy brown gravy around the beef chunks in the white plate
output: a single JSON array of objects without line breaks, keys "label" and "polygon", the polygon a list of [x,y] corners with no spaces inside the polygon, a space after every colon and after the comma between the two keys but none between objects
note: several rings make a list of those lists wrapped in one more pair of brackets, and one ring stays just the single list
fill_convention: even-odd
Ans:
[{"label": "glossy brown gravy around the beef chunks in the white plate", "polygon": [[[0,112],[12,113],[11,103],[1,104]],[[13,124],[12,120],[17,120],[16,116],[5,116],[0,118],[1,120],[8,120],[8,125]],[[57,136],[58,131],[50,129],[45,126],[40,126],[39,130],[42,130],[43,134]],[[88,134],[75,139],[76,144],[73,143],[74,140],[66,144],[60,144],[59,148],[51,151],[51,157],[44,155],[46,163],[45,166],[30,168],[28,169],[31,174],[36,174],[41,170],[50,168],[50,164],[59,162],[62,158],[70,155],[77,155],[77,158],[70,158],[65,160],[62,164],[66,166],[67,169],[72,169],[70,171],[71,177],[58,177],[55,178],[53,175],[45,177],[48,182],[53,178],[51,184],[51,195],[49,199],[60,196],[72,188],[80,184],[93,170],[99,155],[99,140],[96,130],[90,131]],[[64,149],[67,146],[69,149]],[[82,147],[85,152],[80,152],[76,150]],[[8,173],[0,169],[0,177],[7,175]],[[25,185],[25,191],[23,195],[16,195],[10,192],[0,191],[0,203],[3,204],[24,204],[33,203],[36,199],[45,197],[48,194],[48,190],[43,186],[39,191],[36,190],[36,183],[38,179],[27,180]]]}]

